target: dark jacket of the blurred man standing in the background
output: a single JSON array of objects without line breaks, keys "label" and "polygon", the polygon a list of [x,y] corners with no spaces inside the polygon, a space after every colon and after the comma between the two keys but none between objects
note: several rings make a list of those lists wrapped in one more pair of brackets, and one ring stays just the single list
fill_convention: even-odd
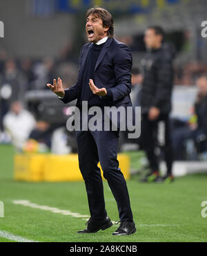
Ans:
[{"label": "dark jacket of the blurred man standing in the background", "polygon": [[173,48],[163,45],[159,49],[148,51],[142,60],[144,68],[140,95],[142,113],[148,113],[150,107],[157,107],[161,113],[170,112],[174,55]]}]

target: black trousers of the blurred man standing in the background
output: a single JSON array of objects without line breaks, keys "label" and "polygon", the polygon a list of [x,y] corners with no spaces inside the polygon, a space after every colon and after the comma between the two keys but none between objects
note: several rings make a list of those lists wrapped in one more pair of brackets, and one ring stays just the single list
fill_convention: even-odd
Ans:
[{"label": "black trousers of the blurred man standing in the background", "polygon": [[146,156],[150,163],[150,170],[152,172],[159,171],[159,157],[155,154],[158,141],[158,124],[164,123],[164,145],[161,149],[164,153],[164,160],[166,162],[167,174],[172,173],[173,150],[171,142],[170,119],[168,114],[160,114],[156,120],[149,120],[148,114],[145,113],[141,118],[141,145],[146,152]]}]

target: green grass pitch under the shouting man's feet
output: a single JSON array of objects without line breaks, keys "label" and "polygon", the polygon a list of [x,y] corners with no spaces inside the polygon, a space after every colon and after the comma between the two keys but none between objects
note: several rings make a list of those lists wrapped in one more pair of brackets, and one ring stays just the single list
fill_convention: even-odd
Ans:
[{"label": "green grass pitch under the shouting man's feet", "polygon": [[[34,241],[207,241],[207,217],[201,217],[201,202],[207,200],[206,174],[184,176],[170,184],[143,184],[134,176],[127,184],[137,232],[114,237],[112,232],[117,229],[114,225],[95,234],[81,235],[77,230],[86,227],[86,220],[15,205],[12,201],[28,200],[89,215],[84,183],[14,181],[13,155],[10,145],[0,145],[0,201],[5,208],[0,230]],[[108,183],[104,181],[103,185],[108,216],[119,221]],[[11,240],[0,237],[0,241]]]}]

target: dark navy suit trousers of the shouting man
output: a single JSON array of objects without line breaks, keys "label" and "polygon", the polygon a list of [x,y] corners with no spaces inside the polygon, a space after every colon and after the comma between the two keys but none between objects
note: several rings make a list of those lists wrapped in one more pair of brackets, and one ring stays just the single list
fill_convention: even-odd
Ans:
[{"label": "dark navy suit trousers of the shouting man", "polygon": [[92,219],[107,216],[103,196],[100,161],[103,176],[117,201],[120,221],[132,221],[132,210],[124,175],[117,161],[119,131],[76,131],[79,168],[85,181]]}]

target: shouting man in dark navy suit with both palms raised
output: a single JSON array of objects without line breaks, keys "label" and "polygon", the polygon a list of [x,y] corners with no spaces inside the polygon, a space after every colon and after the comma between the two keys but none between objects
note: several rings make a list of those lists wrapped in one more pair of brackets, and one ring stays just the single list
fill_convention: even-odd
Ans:
[{"label": "shouting man in dark navy suit with both palms raised", "polygon": [[[132,106],[132,56],[128,46],[113,38],[113,19],[103,8],[91,8],[86,13],[86,33],[90,43],[81,49],[77,83],[63,90],[62,81],[47,84],[64,103],[77,99],[77,107],[87,101],[88,107]],[[90,120],[91,116],[88,116]],[[103,121],[104,122],[104,121]],[[76,131],[79,168],[86,184],[90,219],[81,233],[97,232],[112,226],[103,197],[100,169],[117,201],[120,225],[112,235],[130,235],[136,231],[130,208],[126,181],[117,161],[119,125],[117,131]]]}]

